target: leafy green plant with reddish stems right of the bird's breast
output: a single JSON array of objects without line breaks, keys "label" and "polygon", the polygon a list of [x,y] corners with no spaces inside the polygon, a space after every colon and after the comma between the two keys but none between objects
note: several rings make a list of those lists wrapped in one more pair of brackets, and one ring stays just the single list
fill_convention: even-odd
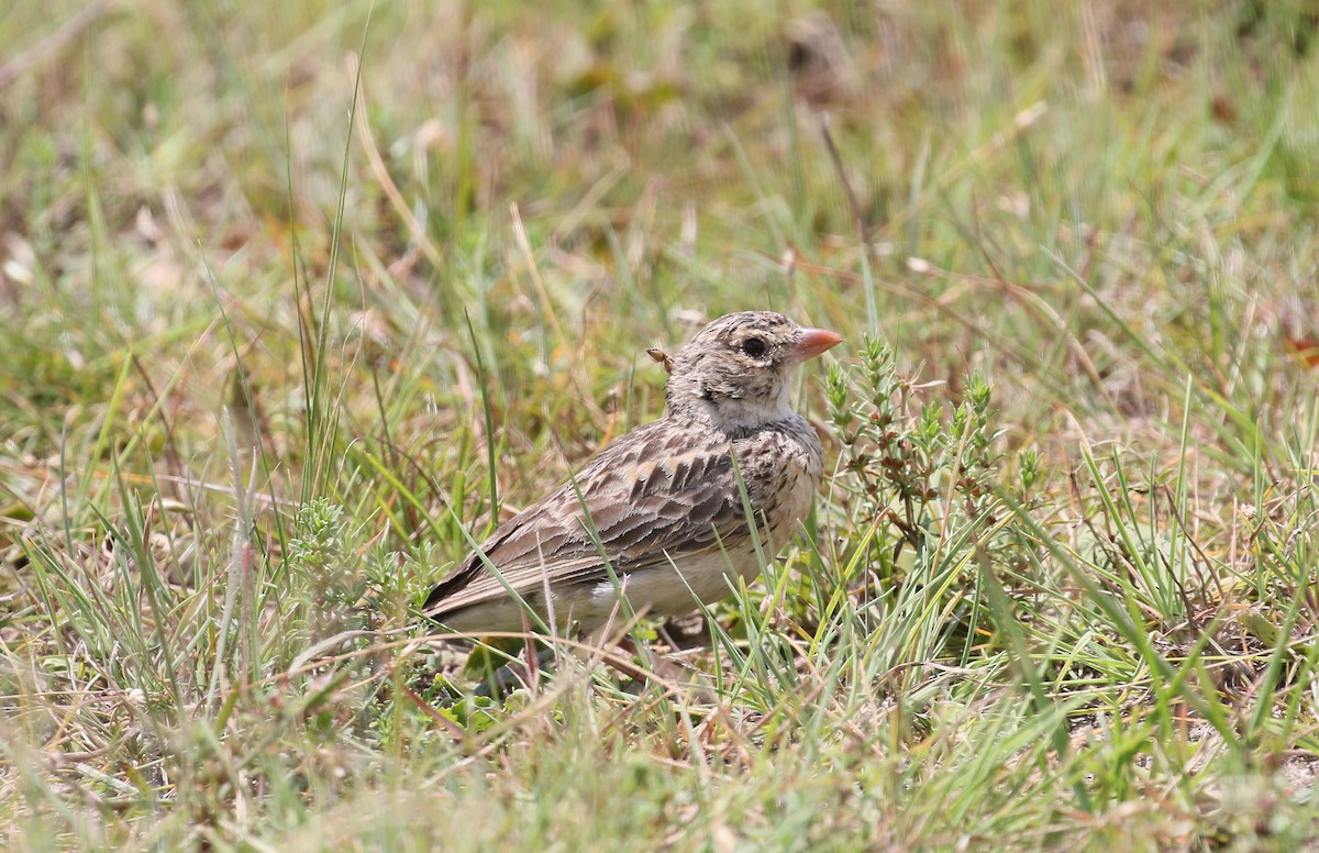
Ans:
[{"label": "leafy green plant with reddish stems right of the bird's breast", "polygon": [[[959,638],[964,663],[988,630],[980,625],[980,568],[1017,575],[1031,544],[1001,497],[1002,430],[989,384],[968,377],[963,399],[948,407],[929,398],[934,388],[901,376],[893,349],[873,338],[863,341],[856,367],[830,370],[830,415],[842,447],[834,486],[848,509],[847,539],[864,548],[844,555],[843,581],[863,613],[884,621],[906,614],[923,625],[922,654],[944,649],[935,637]],[[1020,469],[1012,498],[1029,505],[1038,456],[1022,459]]]}]

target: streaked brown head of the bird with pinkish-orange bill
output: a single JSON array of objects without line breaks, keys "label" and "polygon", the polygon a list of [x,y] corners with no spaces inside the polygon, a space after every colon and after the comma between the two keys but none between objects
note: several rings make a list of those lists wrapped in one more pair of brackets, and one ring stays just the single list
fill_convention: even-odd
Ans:
[{"label": "streaked brown head of the bird with pinkish-orange bill", "polygon": [[773,311],[725,314],[667,363],[669,410],[725,427],[754,427],[786,417],[793,369],[842,340]]}]

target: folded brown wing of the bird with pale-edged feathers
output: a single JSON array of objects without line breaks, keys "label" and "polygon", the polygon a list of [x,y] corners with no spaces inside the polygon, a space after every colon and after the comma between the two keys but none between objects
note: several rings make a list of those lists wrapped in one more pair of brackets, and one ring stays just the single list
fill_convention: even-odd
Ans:
[{"label": "folded brown wing of the bird with pale-edged feathers", "polygon": [[[710,430],[652,422],[609,444],[576,477],[526,508],[481,544],[504,583],[474,552],[426,599],[423,612],[446,614],[550,585],[605,580],[608,574],[586,515],[621,576],[669,558],[739,547],[749,539],[733,472],[732,446]],[[580,492],[580,497],[579,493]]]}]

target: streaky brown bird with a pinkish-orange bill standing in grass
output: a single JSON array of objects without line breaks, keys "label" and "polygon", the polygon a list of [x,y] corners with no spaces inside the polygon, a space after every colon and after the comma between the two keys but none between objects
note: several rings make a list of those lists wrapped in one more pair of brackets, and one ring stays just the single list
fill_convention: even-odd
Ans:
[{"label": "streaky brown bird with a pinkish-orange bill standing in grass", "polygon": [[671,356],[649,351],[669,370],[663,414],[499,525],[421,612],[470,635],[525,632],[537,620],[590,635],[619,618],[620,593],[650,617],[728,597],[810,510],[824,452],[789,403],[791,378],[842,341],[782,314],[740,311]]}]

